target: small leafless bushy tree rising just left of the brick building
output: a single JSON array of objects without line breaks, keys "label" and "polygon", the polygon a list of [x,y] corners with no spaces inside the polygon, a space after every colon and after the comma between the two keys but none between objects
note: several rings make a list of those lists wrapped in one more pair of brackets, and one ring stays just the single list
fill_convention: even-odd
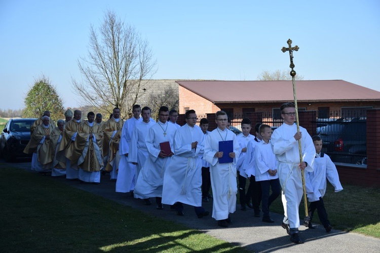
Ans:
[{"label": "small leafless bushy tree rising just left of the brick building", "polygon": [[147,106],[151,109],[151,117],[156,120],[161,106],[167,106],[169,110],[178,110],[178,105],[178,92],[173,87],[167,87],[160,93],[150,94],[147,101]]}]

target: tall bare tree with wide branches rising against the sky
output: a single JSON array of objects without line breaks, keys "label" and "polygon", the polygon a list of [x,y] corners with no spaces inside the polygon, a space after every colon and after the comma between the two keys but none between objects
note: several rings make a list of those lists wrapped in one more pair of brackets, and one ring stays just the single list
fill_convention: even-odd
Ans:
[{"label": "tall bare tree with wide branches rising against the sky", "polygon": [[101,112],[119,107],[123,118],[156,72],[147,40],[111,11],[105,13],[99,34],[91,26],[88,56],[81,57],[78,66],[83,79],[71,78],[75,93]]}]

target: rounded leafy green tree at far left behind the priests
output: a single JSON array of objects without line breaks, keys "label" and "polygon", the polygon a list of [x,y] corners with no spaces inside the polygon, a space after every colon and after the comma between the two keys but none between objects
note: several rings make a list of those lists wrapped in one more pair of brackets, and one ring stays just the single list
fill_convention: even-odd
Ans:
[{"label": "rounded leafy green tree at far left behind the priests", "polygon": [[44,111],[50,111],[53,120],[63,118],[62,99],[45,76],[35,80],[33,87],[26,94],[24,118],[39,118]]}]

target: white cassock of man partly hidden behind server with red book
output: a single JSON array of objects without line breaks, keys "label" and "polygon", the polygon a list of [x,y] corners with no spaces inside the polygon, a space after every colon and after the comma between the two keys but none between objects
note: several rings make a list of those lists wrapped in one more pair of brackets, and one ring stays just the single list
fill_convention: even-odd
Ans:
[{"label": "white cassock of man partly hidden behind server with red book", "polygon": [[[155,124],[155,121],[149,121],[145,123],[141,121],[136,124],[135,129],[132,134],[131,148],[129,149],[128,160],[129,162],[136,162],[136,173],[135,173],[135,182],[137,182],[138,175],[140,174],[141,168],[144,165],[146,159],[148,159],[148,151],[145,145],[145,138],[148,134],[148,130],[152,125]],[[138,194],[133,194],[135,198],[142,198]]]}]

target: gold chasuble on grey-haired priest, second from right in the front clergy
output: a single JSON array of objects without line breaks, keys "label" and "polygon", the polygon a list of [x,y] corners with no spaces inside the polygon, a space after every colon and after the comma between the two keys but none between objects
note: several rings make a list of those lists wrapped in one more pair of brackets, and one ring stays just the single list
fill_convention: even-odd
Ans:
[{"label": "gold chasuble on grey-haired priest, second from right in the front clergy", "polygon": [[57,160],[66,163],[65,158],[67,158],[71,161],[71,166],[73,168],[77,167],[76,165],[77,165],[79,157],[81,156],[81,153],[79,153],[78,151],[75,151],[75,148],[74,148],[75,141],[72,141],[71,137],[75,133],[78,132],[79,125],[81,123],[83,123],[82,119],[80,122],[77,122],[77,120],[75,119],[71,119],[70,121],[67,122],[61,143],[59,143],[58,150],[57,150]]}]

